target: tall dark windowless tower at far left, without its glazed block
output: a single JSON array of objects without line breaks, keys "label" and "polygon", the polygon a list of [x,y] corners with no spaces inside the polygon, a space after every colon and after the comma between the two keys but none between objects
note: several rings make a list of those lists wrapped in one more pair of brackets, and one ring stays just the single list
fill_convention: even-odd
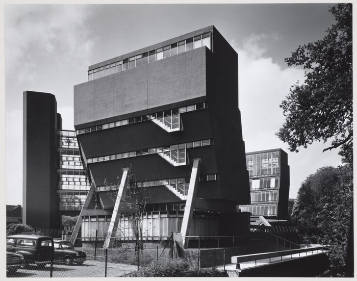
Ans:
[{"label": "tall dark windowless tower at far left, without its glazed block", "polygon": [[23,223],[59,229],[57,102],[53,94],[23,92]]}]

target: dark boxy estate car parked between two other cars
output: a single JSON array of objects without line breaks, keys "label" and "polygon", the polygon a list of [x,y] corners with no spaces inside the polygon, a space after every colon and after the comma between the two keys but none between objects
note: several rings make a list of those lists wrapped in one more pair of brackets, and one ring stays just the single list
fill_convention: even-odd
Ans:
[{"label": "dark boxy estate car parked between two other cars", "polygon": [[53,238],[39,235],[11,235],[6,238],[6,250],[22,254],[27,264],[50,263],[54,253]]}]

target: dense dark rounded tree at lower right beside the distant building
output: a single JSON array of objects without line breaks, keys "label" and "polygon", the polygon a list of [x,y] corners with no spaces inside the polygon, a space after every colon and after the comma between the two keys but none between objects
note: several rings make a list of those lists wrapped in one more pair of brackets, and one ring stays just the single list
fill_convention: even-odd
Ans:
[{"label": "dense dark rounded tree at lower right beside the distant building", "polygon": [[313,243],[327,245],[335,268],[346,264],[353,207],[353,171],[350,165],[323,167],[301,185],[292,211],[299,232]]}]

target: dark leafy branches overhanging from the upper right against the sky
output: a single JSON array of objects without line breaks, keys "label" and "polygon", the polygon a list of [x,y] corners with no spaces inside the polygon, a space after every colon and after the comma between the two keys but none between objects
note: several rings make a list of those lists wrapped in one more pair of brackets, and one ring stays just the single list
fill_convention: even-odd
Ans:
[{"label": "dark leafy branches overhanging from the upper right against the sky", "polygon": [[297,82],[283,100],[285,123],[276,133],[291,151],[314,141],[340,147],[344,161],[352,163],[352,4],[329,8],[336,24],[316,42],[300,45],[285,61],[302,65],[305,81]]}]

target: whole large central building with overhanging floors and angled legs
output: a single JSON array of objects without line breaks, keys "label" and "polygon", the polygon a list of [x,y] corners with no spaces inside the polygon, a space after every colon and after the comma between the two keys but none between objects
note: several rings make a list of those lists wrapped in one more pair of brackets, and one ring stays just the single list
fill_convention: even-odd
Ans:
[{"label": "whole large central building with overhanging floors and angled legs", "polygon": [[152,194],[145,238],[247,233],[236,208],[250,203],[238,55],[215,27],[89,66],[74,86],[74,127],[91,182],[75,226],[83,238],[131,236],[120,208],[128,173]]}]

